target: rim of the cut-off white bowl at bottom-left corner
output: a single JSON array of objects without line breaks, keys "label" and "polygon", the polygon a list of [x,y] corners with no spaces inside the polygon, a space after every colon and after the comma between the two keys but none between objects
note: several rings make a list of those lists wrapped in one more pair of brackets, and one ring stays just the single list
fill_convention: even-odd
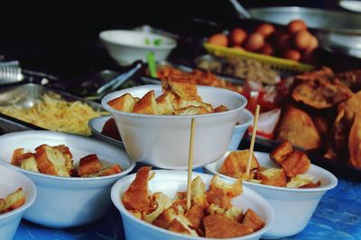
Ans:
[{"label": "rim of the cut-off white bowl at bottom-left corner", "polygon": [[0,221],[5,219],[5,218],[10,218],[11,216],[14,216],[14,215],[16,215],[16,214],[18,214],[20,212],[23,212],[26,209],[30,208],[32,206],[32,204],[35,202],[35,200],[37,198],[37,195],[38,195],[38,191],[36,189],[35,183],[32,182],[32,180],[28,176],[26,176],[26,174],[21,173],[19,171],[16,171],[14,169],[11,169],[11,168],[7,167],[5,164],[0,164],[0,172],[2,171],[2,168],[13,172],[14,175],[15,174],[21,175],[23,177],[23,179],[30,184],[30,190],[29,191],[31,191],[31,198],[29,198],[29,196],[26,196],[25,203],[22,206],[20,206],[17,209],[11,210],[9,212],[5,212],[5,213],[0,214]]}]

